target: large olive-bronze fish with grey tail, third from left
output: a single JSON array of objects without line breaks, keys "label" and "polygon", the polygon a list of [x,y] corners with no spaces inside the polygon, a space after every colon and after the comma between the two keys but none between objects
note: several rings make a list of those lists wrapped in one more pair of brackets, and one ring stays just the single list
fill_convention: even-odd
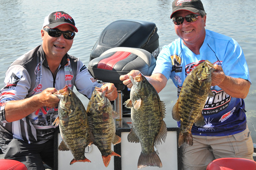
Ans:
[{"label": "large olive-bronze fish with grey tail, third from left", "polygon": [[130,99],[124,104],[131,108],[132,128],[128,134],[129,142],[140,142],[141,154],[138,169],[146,166],[162,167],[162,162],[154,150],[155,144],[165,142],[167,136],[165,104],[160,101],[157,91],[140,73],[129,76],[133,86]]}]

